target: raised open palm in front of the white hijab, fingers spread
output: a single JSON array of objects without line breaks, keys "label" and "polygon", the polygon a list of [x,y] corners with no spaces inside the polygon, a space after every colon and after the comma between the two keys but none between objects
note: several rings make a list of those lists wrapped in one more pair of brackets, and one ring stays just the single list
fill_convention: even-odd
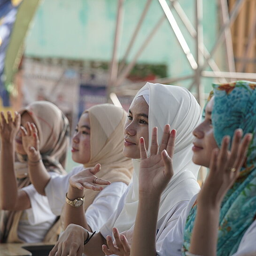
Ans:
[{"label": "raised open palm in front of the white hijab, fingers spread", "polygon": [[172,156],[174,152],[176,130],[170,132],[170,125],[164,126],[163,139],[158,150],[157,127],[152,130],[150,156],[147,157],[145,142],[140,138],[140,194],[161,195],[171,177]]}]

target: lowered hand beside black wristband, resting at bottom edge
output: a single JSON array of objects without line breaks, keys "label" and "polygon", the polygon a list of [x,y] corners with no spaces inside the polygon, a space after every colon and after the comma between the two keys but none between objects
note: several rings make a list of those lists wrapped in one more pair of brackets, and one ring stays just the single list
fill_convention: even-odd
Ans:
[{"label": "lowered hand beside black wristband, resting at bottom edge", "polygon": [[88,233],[82,226],[70,224],[62,233],[49,256],[82,256],[84,251],[84,241]]}]

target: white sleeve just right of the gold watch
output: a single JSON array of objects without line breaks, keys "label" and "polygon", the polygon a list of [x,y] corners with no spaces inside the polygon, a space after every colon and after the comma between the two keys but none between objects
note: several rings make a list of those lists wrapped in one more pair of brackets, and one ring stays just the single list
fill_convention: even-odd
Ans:
[{"label": "white sleeve just right of the gold watch", "polygon": [[[109,217],[115,212],[118,202],[127,185],[124,182],[114,182],[106,186],[94,199],[93,203],[85,212],[88,225],[93,231],[99,232]],[[85,191],[86,200],[86,191]]]}]

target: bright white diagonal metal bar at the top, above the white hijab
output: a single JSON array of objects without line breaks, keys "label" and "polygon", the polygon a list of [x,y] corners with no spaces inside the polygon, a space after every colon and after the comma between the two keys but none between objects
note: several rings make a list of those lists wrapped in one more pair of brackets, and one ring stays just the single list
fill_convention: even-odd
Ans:
[{"label": "bright white diagonal metal bar at the top, above the white hijab", "polygon": [[178,24],[174,18],[174,16],[172,15],[171,13],[171,9],[170,7],[168,6],[168,4],[166,3],[166,0],[158,0],[161,7],[163,8],[163,11],[171,25],[171,28],[176,36],[176,38],[178,39],[178,42],[183,50],[183,52],[185,53],[186,55],[186,58],[191,66],[191,68],[193,70],[197,69],[197,63],[194,59],[194,56],[193,54],[191,53],[187,43],[186,43],[186,40],[184,38],[184,36],[182,35],[182,32],[180,31],[179,27],[178,27]]}]

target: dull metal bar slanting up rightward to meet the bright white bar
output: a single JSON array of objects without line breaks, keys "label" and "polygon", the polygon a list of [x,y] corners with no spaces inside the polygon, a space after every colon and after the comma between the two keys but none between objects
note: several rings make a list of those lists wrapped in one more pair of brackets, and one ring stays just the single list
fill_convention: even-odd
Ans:
[{"label": "dull metal bar slanting up rightward to meet the bright white bar", "polygon": [[137,51],[137,53],[134,55],[132,61],[124,68],[124,70],[121,72],[121,74],[118,76],[115,85],[121,85],[122,82],[124,81],[124,78],[127,77],[127,75],[130,73],[130,71],[132,70],[132,68],[134,67],[137,59],[139,58],[140,54],[143,52],[143,50],[146,48],[147,44],[149,43],[150,39],[155,35],[155,32],[158,30],[158,28],[160,27],[160,25],[162,25],[163,21],[165,20],[165,16],[163,15],[162,18],[160,18],[160,20],[158,21],[158,23],[156,23],[155,27],[153,28],[153,30],[150,32],[150,34],[148,35],[148,37],[144,40],[143,44],[141,45],[141,47],[139,48],[139,50]]}]

